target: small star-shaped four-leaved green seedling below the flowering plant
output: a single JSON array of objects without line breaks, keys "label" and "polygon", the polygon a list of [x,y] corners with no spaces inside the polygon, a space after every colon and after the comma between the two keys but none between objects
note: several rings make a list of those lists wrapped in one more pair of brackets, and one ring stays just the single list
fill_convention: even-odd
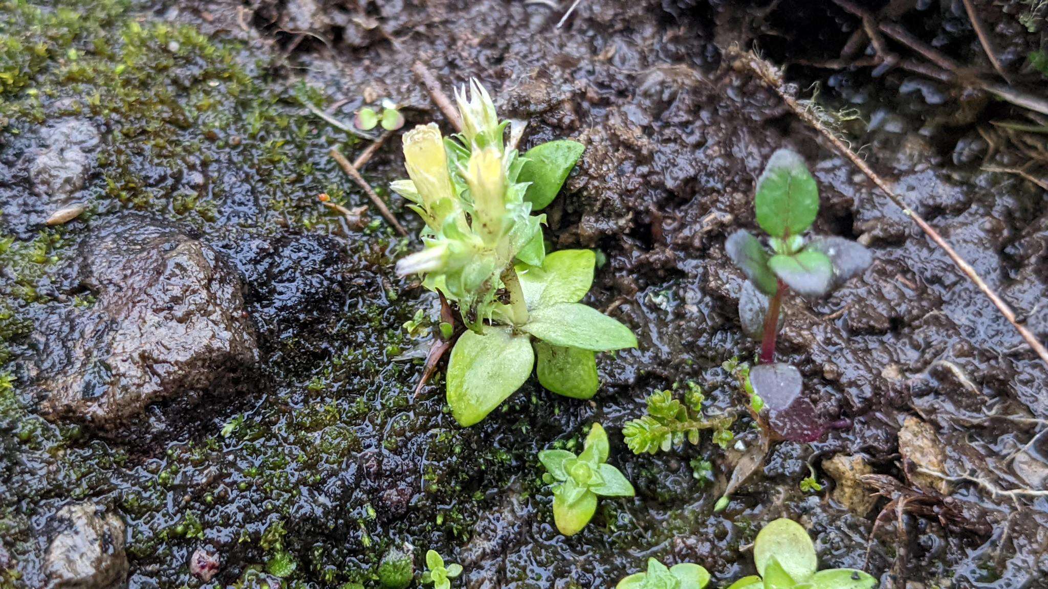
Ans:
[{"label": "small star-shaped four-leaved green seedling below the flowering plant", "polygon": [[552,483],[553,521],[564,536],[578,533],[596,511],[596,498],[633,497],[633,485],[618,468],[608,464],[608,434],[593,423],[578,456],[567,450],[544,450],[539,460],[546,467],[543,480]]}]

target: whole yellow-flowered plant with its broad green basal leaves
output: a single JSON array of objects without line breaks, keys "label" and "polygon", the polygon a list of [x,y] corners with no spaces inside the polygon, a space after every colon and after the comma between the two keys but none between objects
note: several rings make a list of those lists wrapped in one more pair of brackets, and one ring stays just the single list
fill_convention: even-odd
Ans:
[{"label": "whole yellow-flowered plant with its broad green basal leaves", "polygon": [[[594,352],[635,347],[628,327],[578,301],[593,282],[594,254],[549,256],[545,215],[583,146],[558,140],[518,156],[503,141],[487,92],[476,82],[456,93],[462,133],[435,124],[403,138],[410,180],[392,189],[425,221],[424,248],[397,263],[424,276],[468,328],[451,352],[446,392],[455,419],[472,426],[527,380],[532,367],[554,393],[589,398],[598,381]],[[537,357],[538,356],[538,357]]]}]

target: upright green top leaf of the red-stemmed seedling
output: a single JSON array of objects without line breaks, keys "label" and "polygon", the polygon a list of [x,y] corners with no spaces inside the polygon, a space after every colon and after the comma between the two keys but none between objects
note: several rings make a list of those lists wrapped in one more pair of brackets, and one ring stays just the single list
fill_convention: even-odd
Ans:
[{"label": "upright green top leaf of the red-stemmed seedling", "polygon": [[757,180],[757,223],[771,237],[801,235],[818,213],[818,187],[796,152],[781,149]]}]

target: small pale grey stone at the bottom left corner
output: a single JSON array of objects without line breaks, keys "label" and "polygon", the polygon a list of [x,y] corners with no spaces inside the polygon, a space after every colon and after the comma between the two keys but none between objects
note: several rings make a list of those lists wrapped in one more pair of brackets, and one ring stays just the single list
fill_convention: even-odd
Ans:
[{"label": "small pale grey stone at the bottom left corner", "polygon": [[110,589],[127,583],[125,527],[121,518],[94,503],[67,505],[47,547],[44,572],[49,589]]}]

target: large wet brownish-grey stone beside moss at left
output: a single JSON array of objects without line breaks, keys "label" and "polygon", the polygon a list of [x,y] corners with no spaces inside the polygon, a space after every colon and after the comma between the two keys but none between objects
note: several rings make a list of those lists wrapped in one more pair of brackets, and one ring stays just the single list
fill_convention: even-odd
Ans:
[{"label": "large wet brownish-grey stone beside moss at left", "polygon": [[240,277],[201,241],[115,217],[92,227],[74,271],[93,304],[65,308],[34,335],[48,418],[116,430],[152,403],[228,392],[257,363]]}]

